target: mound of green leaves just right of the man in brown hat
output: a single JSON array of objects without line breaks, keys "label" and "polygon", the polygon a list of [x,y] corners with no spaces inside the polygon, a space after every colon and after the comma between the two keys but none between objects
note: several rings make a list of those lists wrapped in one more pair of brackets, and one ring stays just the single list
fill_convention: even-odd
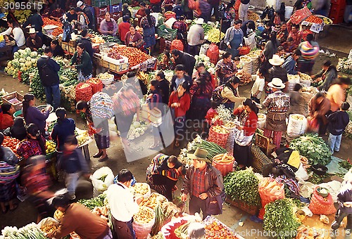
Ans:
[{"label": "mound of green leaves just right of the man in brown hat", "polygon": [[225,193],[232,200],[260,206],[258,183],[259,180],[251,169],[232,172],[224,178]]}]

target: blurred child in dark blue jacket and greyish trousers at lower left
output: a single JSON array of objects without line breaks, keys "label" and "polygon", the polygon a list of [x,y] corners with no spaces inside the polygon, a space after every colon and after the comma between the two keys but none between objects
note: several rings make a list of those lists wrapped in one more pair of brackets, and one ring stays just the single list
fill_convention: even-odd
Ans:
[{"label": "blurred child in dark blue jacket and greyish trousers at lower left", "polygon": [[68,136],[64,143],[63,155],[60,158],[61,168],[65,171],[65,185],[70,195],[70,200],[74,200],[77,181],[81,172],[89,174],[87,162],[84,160],[82,152],[77,148],[77,138]]}]

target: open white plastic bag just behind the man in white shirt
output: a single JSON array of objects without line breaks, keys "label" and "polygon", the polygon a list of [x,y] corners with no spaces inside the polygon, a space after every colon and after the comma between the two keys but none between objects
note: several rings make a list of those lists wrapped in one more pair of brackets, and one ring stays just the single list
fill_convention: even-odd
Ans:
[{"label": "open white plastic bag just behind the man in white shirt", "polygon": [[[100,180],[102,176],[106,176],[104,181]],[[94,174],[89,177],[89,179],[92,180],[92,184],[94,187],[94,197],[108,189],[108,186],[111,186],[111,184],[113,184],[113,178],[113,171],[109,167],[101,167],[100,169],[96,170],[96,172],[94,172]]]}]

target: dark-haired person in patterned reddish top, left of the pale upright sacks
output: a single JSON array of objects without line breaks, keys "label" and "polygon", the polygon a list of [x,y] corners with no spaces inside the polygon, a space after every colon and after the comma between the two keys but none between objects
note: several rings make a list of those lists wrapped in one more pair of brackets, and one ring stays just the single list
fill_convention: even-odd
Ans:
[{"label": "dark-haired person in patterned reddish top, left of the pale upright sacks", "polygon": [[215,65],[215,79],[218,81],[217,84],[221,86],[229,81],[237,73],[237,67],[232,60],[230,52],[222,54],[222,59]]}]

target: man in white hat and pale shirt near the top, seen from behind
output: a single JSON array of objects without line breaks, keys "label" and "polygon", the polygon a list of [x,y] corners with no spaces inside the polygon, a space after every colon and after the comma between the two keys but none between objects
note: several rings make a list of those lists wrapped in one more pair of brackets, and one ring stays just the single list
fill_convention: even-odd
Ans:
[{"label": "man in white hat and pale shirt near the top, seen from behind", "polygon": [[189,45],[188,53],[192,56],[199,55],[199,50],[201,49],[201,44],[204,43],[204,30],[203,30],[203,18],[198,18],[194,20],[194,25],[189,27],[189,32],[187,34],[187,43]]}]

